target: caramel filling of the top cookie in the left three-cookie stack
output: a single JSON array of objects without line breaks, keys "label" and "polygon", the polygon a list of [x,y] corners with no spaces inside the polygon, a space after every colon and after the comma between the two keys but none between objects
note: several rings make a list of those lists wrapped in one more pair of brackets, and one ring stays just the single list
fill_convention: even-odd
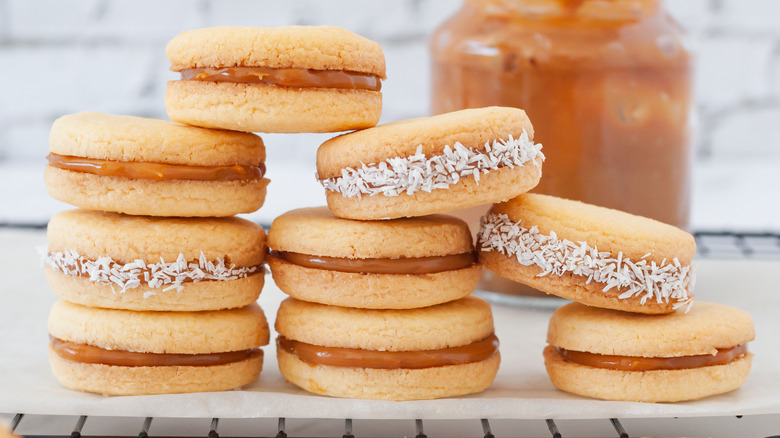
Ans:
[{"label": "caramel filling of the top cookie in the left three-cookie stack", "polygon": [[186,166],[178,164],[109,161],[70,155],[49,154],[49,165],[73,172],[98,176],[165,181],[174,179],[196,181],[259,180],[265,174],[265,164],[257,166]]}]

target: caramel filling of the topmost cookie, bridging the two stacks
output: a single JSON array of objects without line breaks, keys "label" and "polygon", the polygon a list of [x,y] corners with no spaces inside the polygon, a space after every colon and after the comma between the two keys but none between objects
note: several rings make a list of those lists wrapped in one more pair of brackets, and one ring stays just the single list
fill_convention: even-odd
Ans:
[{"label": "caramel filling of the topmost cookie, bridging the two stacks", "polygon": [[226,67],[188,68],[181,71],[185,81],[266,84],[288,88],[343,88],[351,90],[382,89],[379,76],[343,70],[307,68]]}]

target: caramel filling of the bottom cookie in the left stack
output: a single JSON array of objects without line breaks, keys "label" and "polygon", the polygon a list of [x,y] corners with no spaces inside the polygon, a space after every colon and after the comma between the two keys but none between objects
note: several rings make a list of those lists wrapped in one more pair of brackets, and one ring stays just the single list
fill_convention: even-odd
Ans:
[{"label": "caramel filling of the bottom cookie in the left stack", "polygon": [[105,350],[87,344],[63,341],[50,336],[54,352],[63,359],[73,362],[112,365],[119,367],[165,367],[165,366],[212,366],[238,362],[263,355],[263,350],[254,348],[243,351],[209,354],[157,354],[132,351]]}]

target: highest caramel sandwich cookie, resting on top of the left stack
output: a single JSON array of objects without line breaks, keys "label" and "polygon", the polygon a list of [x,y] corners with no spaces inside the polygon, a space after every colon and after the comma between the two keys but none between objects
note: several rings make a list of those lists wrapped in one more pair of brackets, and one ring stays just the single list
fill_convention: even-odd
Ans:
[{"label": "highest caramel sandwich cookie, resting on top of the left stack", "polygon": [[379,44],[330,26],[215,27],[168,43],[171,120],[247,132],[336,132],[382,113]]}]

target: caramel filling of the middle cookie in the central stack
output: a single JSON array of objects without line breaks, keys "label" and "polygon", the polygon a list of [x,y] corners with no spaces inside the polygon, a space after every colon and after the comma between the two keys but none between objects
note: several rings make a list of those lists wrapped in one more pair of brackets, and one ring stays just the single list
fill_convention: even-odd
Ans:
[{"label": "caramel filling of the middle cookie in the central stack", "polygon": [[435,274],[468,268],[476,263],[474,253],[470,252],[438,257],[400,259],[347,259],[286,251],[272,251],[271,256],[305,268],[361,274]]}]

